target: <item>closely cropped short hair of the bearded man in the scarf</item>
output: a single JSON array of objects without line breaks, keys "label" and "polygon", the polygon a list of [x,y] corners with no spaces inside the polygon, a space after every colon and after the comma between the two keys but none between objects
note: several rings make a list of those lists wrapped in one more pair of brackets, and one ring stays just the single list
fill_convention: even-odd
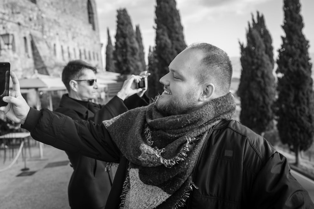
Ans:
[{"label": "closely cropped short hair of the bearded man in the scarf", "polygon": [[214,84],[219,96],[227,94],[230,91],[232,79],[232,63],[228,54],[207,43],[194,43],[187,49],[197,49],[204,53],[202,68],[198,73],[199,84],[210,81]]}]

